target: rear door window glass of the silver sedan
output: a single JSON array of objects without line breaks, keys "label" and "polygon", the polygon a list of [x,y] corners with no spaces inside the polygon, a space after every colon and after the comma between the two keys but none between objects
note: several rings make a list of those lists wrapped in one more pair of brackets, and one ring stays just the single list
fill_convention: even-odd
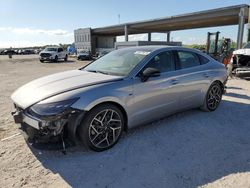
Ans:
[{"label": "rear door window glass of the silver sedan", "polygon": [[186,69],[200,65],[199,57],[195,53],[187,51],[177,51],[177,54],[181,69]]}]

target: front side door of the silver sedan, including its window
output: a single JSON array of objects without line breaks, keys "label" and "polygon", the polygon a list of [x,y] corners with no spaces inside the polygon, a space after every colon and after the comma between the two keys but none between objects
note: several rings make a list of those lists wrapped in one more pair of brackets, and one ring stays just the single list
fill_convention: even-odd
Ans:
[{"label": "front side door of the silver sedan, including its window", "polygon": [[[179,102],[179,82],[175,79],[175,61],[171,51],[154,56],[143,68],[155,68],[161,72],[142,82],[134,79],[134,124],[152,121],[174,112]],[[143,72],[142,70],[142,72]]]}]

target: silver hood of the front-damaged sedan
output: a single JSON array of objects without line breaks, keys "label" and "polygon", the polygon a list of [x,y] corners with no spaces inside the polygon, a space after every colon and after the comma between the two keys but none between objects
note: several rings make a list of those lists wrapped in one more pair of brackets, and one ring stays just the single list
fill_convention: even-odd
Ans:
[{"label": "silver hood of the front-damaged sedan", "polygon": [[43,99],[78,88],[120,80],[120,76],[72,70],[33,80],[18,88],[11,99],[25,109]]}]

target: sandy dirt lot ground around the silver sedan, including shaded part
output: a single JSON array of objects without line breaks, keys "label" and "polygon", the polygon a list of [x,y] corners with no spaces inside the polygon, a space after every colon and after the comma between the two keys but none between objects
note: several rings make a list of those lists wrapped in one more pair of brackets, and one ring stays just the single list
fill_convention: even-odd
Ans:
[{"label": "sandy dirt lot ground around the silver sedan, including shaded part", "polygon": [[[18,133],[15,89],[85,63],[0,56],[0,139]],[[216,112],[191,110],[130,130],[102,153],[37,150],[19,135],[0,141],[0,187],[250,187],[249,112],[250,81],[232,79]]]}]

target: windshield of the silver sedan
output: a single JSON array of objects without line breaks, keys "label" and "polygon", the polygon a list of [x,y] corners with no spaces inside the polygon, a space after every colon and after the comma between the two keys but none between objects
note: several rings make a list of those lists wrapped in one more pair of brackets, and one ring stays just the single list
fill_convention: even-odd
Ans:
[{"label": "windshield of the silver sedan", "polygon": [[85,67],[84,70],[110,75],[127,76],[148,54],[150,54],[150,51],[141,51],[136,48],[115,50],[97,59]]}]

